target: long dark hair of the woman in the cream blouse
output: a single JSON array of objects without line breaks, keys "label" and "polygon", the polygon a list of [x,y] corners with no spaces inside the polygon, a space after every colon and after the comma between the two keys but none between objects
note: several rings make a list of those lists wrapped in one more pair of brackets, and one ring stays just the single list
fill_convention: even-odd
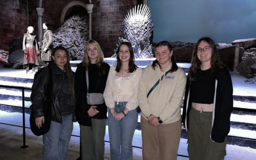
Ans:
[{"label": "long dark hair of the woman in the cream blouse", "polygon": [[129,52],[130,52],[130,58],[129,58],[129,69],[128,69],[128,72],[129,73],[132,73],[134,72],[138,67],[135,65],[134,61],[135,61],[135,58],[134,58],[134,52],[132,50],[132,45],[130,42],[121,42],[121,44],[118,46],[118,49],[116,51],[116,54],[117,54],[117,61],[116,61],[116,72],[120,72],[121,70],[121,67],[122,67],[122,61],[120,60],[119,58],[119,51],[120,51],[120,47],[122,45],[126,45],[129,49]]}]

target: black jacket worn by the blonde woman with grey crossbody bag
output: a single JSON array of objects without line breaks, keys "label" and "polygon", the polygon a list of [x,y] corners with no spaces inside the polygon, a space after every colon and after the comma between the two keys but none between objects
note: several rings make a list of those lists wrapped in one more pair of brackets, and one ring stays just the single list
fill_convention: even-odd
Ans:
[{"label": "black jacket worn by the blonde woman with grey crossbody bag", "polygon": [[[106,87],[106,82],[108,79],[108,73],[110,66],[107,63],[102,63],[102,67],[105,69],[104,75],[97,75],[96,77],[90,77],[92,72],[99,72],[97,68],[93,70],[88,70],[89,81],[95,78],[96,86],[93,86],[95,90],[93,93],[103,93]],[[89,67],[90,68],[90,67]],[[92,84],[89,83],[89,88]],[[90,89],[89,89],[90,90]],[[76,118],[80,125],[92,126],[91,117],[88,116],[88,110],[92,105],[87,103],[87,85],[86,85],[86,69],[83,67],[82,63],[77,65],[76,78],[75,78],[75,92],[76,92]],[[103,104],[97,105],[97,110],[99,113],[93,116],[95,119],[105,119],[107,118],[107,106],[105,102]]]}]

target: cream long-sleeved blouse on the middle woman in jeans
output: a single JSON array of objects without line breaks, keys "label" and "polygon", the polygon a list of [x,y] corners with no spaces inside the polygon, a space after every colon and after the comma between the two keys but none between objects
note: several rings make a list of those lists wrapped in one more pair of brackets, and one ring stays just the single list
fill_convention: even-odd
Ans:
[{"label": "cream long-sleeved blouse on the middle woman in jeans", "polygon": [[138,104],[138,86],[141,76],[141,68],[137,68],[129,77],[116,76],[116,66],[110,67],[108,81],[104,92],[104,100],[109,108],[115,108],[115,102],[127,102],[126,108],[131,111]]}]

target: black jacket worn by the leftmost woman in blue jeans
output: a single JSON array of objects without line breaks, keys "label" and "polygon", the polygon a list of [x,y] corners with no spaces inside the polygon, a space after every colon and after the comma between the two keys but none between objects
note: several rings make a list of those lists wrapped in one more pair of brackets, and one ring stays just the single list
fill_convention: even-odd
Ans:
[{"label": "black jacket worn by the leftmost woman in blue jeans", "polygon": [[[62,124],[60,114],[60,104],[58,93],[64,81],[64,72],[54,62],[51,62],[48,67],[44,67],[35,74],[34,83],[30,99],[32,105],[30,109],[35,111],[35,117],[44,116],[44,99],[49,82],[49,69],[52,70],[52,121]],[[72,106],[76,106],[75,104]],[[75,109],[75,108],[74,108]],[[76,116],[73,113],[73,122],[76,122]]]}]

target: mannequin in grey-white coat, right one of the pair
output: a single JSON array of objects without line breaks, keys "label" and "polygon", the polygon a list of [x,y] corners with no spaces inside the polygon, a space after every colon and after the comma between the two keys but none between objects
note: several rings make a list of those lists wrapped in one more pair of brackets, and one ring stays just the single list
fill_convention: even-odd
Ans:
[{"label": "mannequin in grey-white coat, right one of the pair", "polygon": [[49,61],[51,61],[51,53],[52,53],[52,31],[49,30],[49,24],[47,22],[43,23],[44,29],[44,40],[41,51],[42,61],[48,65]]}]

